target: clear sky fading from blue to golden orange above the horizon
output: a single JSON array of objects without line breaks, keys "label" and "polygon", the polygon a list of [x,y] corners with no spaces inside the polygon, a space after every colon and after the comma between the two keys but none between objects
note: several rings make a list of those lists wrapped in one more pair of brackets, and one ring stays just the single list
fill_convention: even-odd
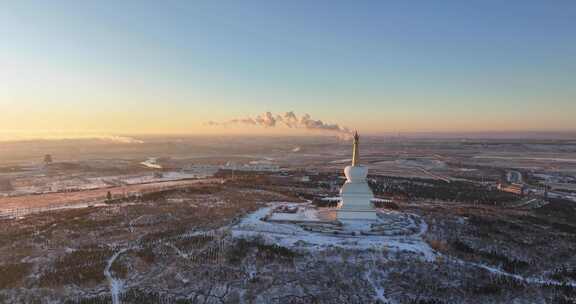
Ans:
[{"label": "clear sky fading from blue to golden orange above the horizon", "polygon": [[0,132],[576,130],[576,1],[0,1]]}]

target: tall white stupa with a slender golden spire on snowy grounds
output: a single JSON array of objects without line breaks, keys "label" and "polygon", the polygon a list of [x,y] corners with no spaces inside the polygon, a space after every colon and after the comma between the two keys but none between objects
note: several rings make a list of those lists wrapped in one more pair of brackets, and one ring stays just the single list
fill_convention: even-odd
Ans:
[{"label": "tall white stupa with a slender golden spire on snowy grounds", "polygon": [[341,202],[338,209],[338,220],[340,221],[378,220],[376,209],[372,205],[374,194],[372,194],[366,181],[368,168],[359,164],[359,140],[360,136],[358,136],[358,132],[355,132],[352,165],[344,169],[346,183],[340,189]]}]

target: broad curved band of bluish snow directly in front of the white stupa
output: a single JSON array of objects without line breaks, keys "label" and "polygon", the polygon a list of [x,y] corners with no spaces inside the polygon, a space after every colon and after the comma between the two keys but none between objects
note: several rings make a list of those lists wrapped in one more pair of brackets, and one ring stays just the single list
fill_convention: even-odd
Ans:
[{"label": "broad curved band of bluish snow directly in front of the white stupa", "polygon": [[334,247],[375,249],[412,252],[429,261],[436,258],[436,253],[421,237],[427,229],[424,222],[420,227],[424,231],[411,236],[336,235],[307,231],[296,224],[263,221],[262,218],[278,205],[278,203],[271,204],[269,207],[249,214],[232,227],[232,235],[236,238],[261,237],[268,243],[299,250],[319,251]]}]

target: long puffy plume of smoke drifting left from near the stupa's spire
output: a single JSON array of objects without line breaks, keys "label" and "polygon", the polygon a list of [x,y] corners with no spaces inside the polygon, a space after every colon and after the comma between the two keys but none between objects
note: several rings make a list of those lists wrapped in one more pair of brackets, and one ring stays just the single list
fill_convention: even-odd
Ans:
[{"label": "long puffy plume of smoke drifting left from near the stupa's spire", "polygon": [[339,124],[326,123],[319,119],[313,119],[310,114],[304,114],[298,117],[293,111],[284,114],[273,114],[264,112],[256,117],[236,118],[226,122],[209,121],[209,126],[228,126],[228,125],[247,125],[263,128],[275,128],[279,126],[291,129],[303,129],[308,131],[318,131],[321,133],[333,133],[339,136],[348,137],[351,134],[350,129],[340,126]]}]

